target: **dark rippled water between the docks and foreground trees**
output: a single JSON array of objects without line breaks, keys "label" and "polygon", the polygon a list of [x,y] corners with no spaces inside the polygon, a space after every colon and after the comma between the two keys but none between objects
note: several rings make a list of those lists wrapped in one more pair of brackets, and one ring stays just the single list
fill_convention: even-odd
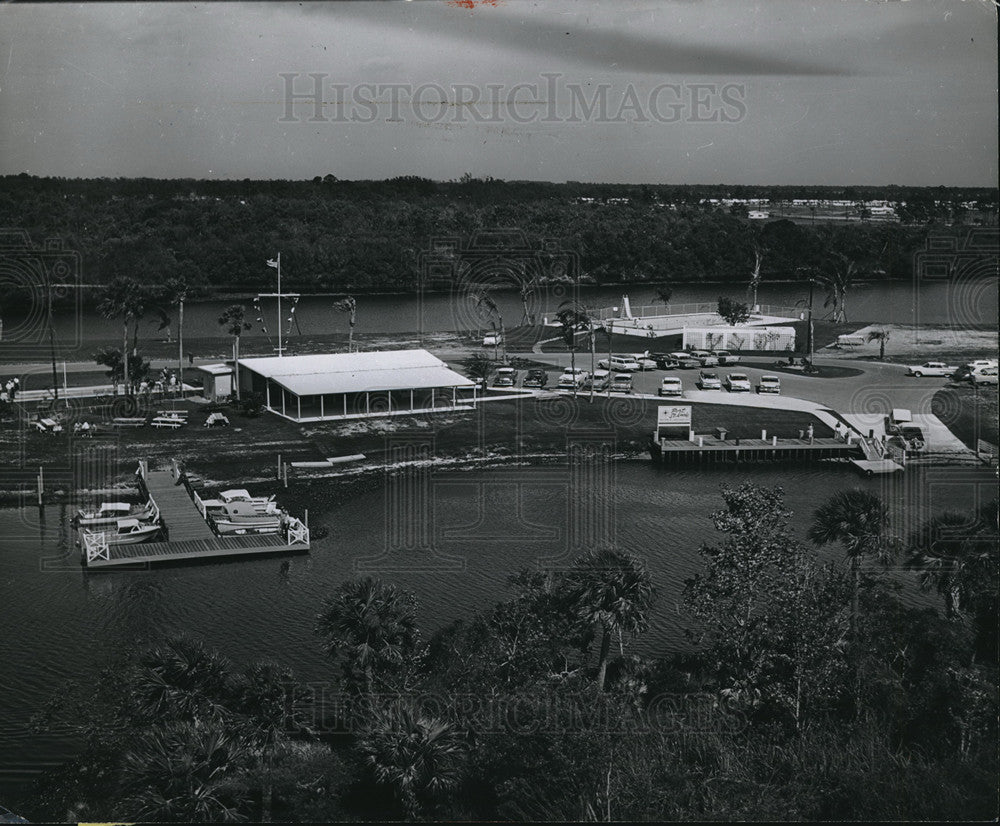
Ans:
[{"label": "dark rippled water between the docks and foreground trees", "polygon": [[[715,536],[709,514],[719,507],[719,486],[747,478],[784,486],[800,534],[817,503],[843,488],[881,492],[904,531],[931,506],[970,507],[995,489],[988,471],[966,468],[912,468],[883,482],[838,466],[680,474],[626,462],[582,487],[562,466],[439,472],[430,477],[422,521],[397,518],[419,501],[400,481],[347,505],[314,502],[310,521],[330,535],[287,566],[271,558],[94,574],[80,568],[68,508],[50,506],[41,520],[34,508],[0,510],[0,795],[68,754],[65,739],[27,733],[30,715],[61,680],[87,679],[124,644],[183,630],[236,661],[272,657],[302,679],[325,679],[313,618],[339,583],[361,572],[413,590],[426,634],[502,599],[517,569],[563,564],[575,532],[610,531],[647,561],[659,590],[636,650],[665,653],[683,643],[680,592],[698,568],[696,549]],[[571,509],[571,500],[596,504]],[[912,589],[908,599],[934,602]]]}]

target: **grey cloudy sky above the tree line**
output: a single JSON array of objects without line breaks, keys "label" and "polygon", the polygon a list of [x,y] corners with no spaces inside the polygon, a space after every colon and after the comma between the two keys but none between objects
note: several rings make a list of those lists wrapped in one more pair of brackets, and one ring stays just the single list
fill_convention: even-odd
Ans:
[{"label": "grey cloudy sky above the tree line", "polygon": [[0,173],[996,186],[996,14],[988,0],[8,4]]}]

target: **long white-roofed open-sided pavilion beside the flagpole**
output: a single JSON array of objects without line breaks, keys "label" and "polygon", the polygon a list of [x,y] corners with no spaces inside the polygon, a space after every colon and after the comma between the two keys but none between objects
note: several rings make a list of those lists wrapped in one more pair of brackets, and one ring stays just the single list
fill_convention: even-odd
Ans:
[{"label": "long white-roofed open-sided pavilion beside the flagpole", "polygon": [[297,422],[404,416],[475,404],[476,384],[426,350],[240,359],[240,391]]}]

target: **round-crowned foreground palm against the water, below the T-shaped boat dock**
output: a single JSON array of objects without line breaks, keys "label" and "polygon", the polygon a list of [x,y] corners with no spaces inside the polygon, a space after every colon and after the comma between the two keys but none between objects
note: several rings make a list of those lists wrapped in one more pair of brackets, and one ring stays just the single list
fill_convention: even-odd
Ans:
[{"label": "round-crowned foreground palm against the water, below the T-shaped boat dock", "polygon": [[374,577],[345,582],[326,601],[315,630],[348,684],[357,690],[360,678],[370,695],[376,678],[404,669],[416,651],[416,600]]}]

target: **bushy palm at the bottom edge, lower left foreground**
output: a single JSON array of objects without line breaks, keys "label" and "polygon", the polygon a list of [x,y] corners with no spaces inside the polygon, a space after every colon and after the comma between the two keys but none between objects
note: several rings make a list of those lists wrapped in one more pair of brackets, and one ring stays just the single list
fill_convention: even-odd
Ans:
[{"label": "bushy palm at the bottom edge, lower left foreground", "polygon": [[219,721],[169,723],[141,732],[122,761],[128,819],[189,823],[245,821],[246,744]]}]

